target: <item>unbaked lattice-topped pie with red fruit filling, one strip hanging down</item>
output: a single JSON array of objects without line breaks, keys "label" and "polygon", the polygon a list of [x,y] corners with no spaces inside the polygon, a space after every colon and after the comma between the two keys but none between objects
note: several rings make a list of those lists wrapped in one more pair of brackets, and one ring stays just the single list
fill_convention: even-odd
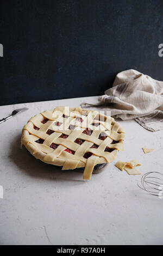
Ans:
[{"label": "unbaked lattice-topped pie with red fruit filling, one strip hanging down", "polygon": [[96,164],[112,162],[123,150],[124,137],[123,127],[108,115],[61,106],[30,118],[21,144],[63,170],[85,167],[83,179],[90,179]]}]

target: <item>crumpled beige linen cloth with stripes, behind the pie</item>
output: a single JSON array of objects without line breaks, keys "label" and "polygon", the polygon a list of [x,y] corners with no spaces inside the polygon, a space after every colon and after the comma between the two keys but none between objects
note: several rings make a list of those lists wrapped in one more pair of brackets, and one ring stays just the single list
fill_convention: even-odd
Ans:
[{"label": "crumpled beige linen cloth with stripes, behind the pie", "polygon": [[112,88],[99,96],[96,105],[122,120],[135,119],[149,131],[163,129],[163,82],[130,69],[116,75]]}]

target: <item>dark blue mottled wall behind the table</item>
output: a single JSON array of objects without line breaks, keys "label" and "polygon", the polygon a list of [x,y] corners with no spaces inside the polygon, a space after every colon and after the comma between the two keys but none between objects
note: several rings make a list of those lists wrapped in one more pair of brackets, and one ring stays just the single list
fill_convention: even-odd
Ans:
[{"label": "dark blue mottled wall behind the table", "polygon": [[0,105],[101,95],[117,72],[163,80],[163,1],[0,2]]}]

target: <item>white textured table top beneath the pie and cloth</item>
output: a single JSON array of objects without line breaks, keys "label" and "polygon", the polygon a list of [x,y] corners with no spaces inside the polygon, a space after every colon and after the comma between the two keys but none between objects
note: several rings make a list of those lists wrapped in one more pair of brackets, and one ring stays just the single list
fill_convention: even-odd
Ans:
[{"label": "white textured table top beneath the pie and cloth", "polygon": [[[90,181],[82,173],[62,171],[36,160],[23,147],[21,130],[28,119],[58,105],[79,106],[97,97],[1,106],[1,118],[28,107],[0,125],[1,245],[161,245],[163,199],[137,187],[141,175],[115,167],[118,160],[138,160],[142,174],[163,173],[163,132],[150,132],[134,120],[126,129],[125,151]],[[142,147],[154,148],[144,154]]]}]

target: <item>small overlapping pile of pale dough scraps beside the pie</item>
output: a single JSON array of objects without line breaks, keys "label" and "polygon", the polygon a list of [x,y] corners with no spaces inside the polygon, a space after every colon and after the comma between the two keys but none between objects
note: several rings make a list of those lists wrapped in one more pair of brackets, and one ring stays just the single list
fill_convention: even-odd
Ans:
[{"label": "small overlapping pile of pale dough scraps beside the pie", "polygon": [[136,166],[141,166],[141,163],[137,162],[136,160],[132,160],[130,162],[122,162],[122,161],[118,161],[116,162],[115,166],[117,168],[119,168],[120,170],[126,170],[126,172],[129,175],[137,175],[137,174],[141,174],[139,172],[139,170],[137,170],[135,167]]}]

